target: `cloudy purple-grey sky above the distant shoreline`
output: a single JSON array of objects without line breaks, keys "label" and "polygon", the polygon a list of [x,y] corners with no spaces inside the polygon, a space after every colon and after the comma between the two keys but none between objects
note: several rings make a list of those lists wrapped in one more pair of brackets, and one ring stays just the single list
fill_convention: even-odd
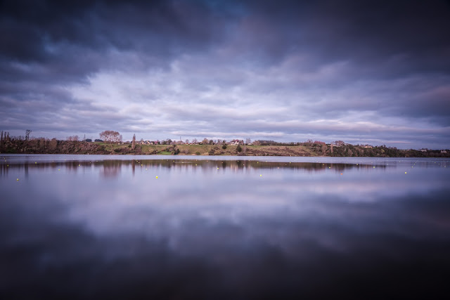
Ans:
[{"label": "cloudy purple-grey sky above the distant shoreline", "polygon": [[0,130],[450,148],[450,1],[0,1]]}]

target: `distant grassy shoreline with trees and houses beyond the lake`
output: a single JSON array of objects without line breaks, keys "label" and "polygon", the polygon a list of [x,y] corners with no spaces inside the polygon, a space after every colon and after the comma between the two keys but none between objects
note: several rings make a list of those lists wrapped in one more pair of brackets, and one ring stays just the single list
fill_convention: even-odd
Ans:
[{"label": "distant grassy shoreline with trees and houses beyond the lake", "polygon": [[450,157],[449,150],[402,150],[386,146],[330,145],[140,145],[57,141],[44,138],[30,141],[7,141],[0,145],[1,154],[68,154],[68,155],[236,155],[294,157]]}]

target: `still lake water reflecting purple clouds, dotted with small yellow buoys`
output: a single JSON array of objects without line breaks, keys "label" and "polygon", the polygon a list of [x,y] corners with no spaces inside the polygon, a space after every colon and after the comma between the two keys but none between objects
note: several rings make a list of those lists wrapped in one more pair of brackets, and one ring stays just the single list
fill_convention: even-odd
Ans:
[{"label": "still lake water reflecting purple clouds, dotted with small yellow buoys", "polygon": [[447,292],[449,159],[0,157],[2,299]]}]

